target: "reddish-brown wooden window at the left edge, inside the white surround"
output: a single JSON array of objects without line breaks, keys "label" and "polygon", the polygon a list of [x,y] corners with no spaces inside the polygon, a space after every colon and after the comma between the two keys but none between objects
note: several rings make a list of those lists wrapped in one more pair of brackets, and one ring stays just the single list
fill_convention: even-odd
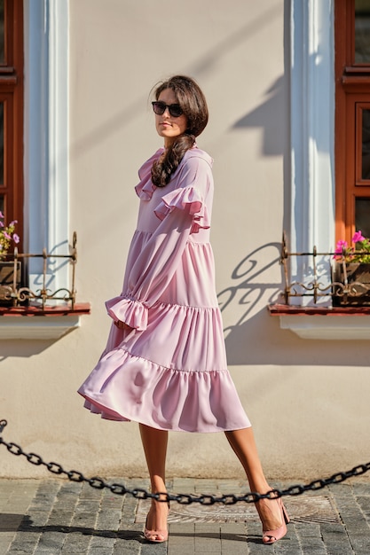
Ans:
[{"label": "reddish-brown wooden window at the left edge, inside the white surround", "polygon": [[23,238],[22,0],[0,0],[0,210]]}]

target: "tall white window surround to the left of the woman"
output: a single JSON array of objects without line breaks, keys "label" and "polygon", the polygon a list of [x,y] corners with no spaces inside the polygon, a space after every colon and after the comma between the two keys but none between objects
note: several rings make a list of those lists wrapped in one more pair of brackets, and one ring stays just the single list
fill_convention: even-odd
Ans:
[{"label": "tall white window surround to the left of the woman", "polygon": [[[26,245],[30,253],[67,254],[68,0],[25,0],[24,27]],[[54,289],[67,286],[67,269],[52,281]]]}]

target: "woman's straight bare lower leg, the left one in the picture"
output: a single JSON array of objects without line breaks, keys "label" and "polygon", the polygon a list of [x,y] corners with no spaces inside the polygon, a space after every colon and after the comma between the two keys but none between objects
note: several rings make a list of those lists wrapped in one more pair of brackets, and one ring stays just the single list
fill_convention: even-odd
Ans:
[{"label": "woman's straight bare lower leg, the left one in the picture", "polygon": [[[146,454],[153,493],[166,492],[166,455],[169,434],[165,430],[140,424],[141,441]],[[152,500],[146,520],[148,530],[167,530],[169,507],[166,503]]]}]

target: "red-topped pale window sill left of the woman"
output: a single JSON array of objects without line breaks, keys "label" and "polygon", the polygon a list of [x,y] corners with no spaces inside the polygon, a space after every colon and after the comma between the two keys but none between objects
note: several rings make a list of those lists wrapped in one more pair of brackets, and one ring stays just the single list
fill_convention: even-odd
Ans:
[{"label": "red-topped pale window sill left of the woman", "polygon": [[80,326],[80,317],[90,314],[89,303],[66,306],[0,307],[0,340],[59,340]]}]

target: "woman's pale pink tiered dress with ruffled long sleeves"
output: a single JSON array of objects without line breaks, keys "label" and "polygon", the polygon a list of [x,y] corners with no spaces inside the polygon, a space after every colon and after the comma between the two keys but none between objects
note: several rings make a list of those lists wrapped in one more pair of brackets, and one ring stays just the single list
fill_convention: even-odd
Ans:
[{"label": "woman's pale pink tiered dress with ruffled long sleeves", "polygon": [[106,301],[114,321],[98,365],[78,392],[103,418],[162,430],[218,432],[250,426],[227,369],[209,244],[212,160],[194,146],[171,181],[140,168],[138,227],[122,294]]}]

